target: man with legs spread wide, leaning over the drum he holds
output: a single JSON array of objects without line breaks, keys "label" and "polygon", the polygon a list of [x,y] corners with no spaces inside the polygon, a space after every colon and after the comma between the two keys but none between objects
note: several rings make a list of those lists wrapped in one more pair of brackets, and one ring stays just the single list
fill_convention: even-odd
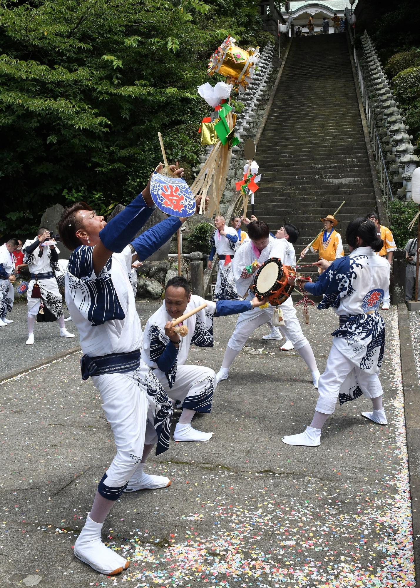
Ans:
[{"label": "man with legs spread wide, leaning over the drum he holds", "polygon": [[[254,272],[261,267],[269,258],[286,259],[286,246],[284,239],[274,239],[270,235],[268,225],[261,220],[249,223],[248,236],[251,240],[242,243],[235,253],[235,259],[232,262],[232,271],[236,282],[236,289],[239,296],[246,296],[249,286],[254,280]],[[255,263],[256,260],[256,263]],[[274,265],[274,264],[273,264]],[[277,276],[274,276],[272,283],[275,283]],[[252,300],[254,296],[248,293],[247,300]],[[288,298],[281,306],[285,325],[282,326],[286,337],[291,340],[294,348],[299,355],[305,360],[306,365],[311,370],[312,382],[318,387],[319,371],[316,367],[314,352],[308,339],[302,333],[301,325],[296,318],[292,299]],[[217,382],[229,377],[229,368],[244,347],[246,340],[255,329],[265,323],[269,323],[272,318],[272,308],[252,309],[242,313],[236,322],[235,330],[229,339],[226,347],[222,367],[216,375]]]}]

